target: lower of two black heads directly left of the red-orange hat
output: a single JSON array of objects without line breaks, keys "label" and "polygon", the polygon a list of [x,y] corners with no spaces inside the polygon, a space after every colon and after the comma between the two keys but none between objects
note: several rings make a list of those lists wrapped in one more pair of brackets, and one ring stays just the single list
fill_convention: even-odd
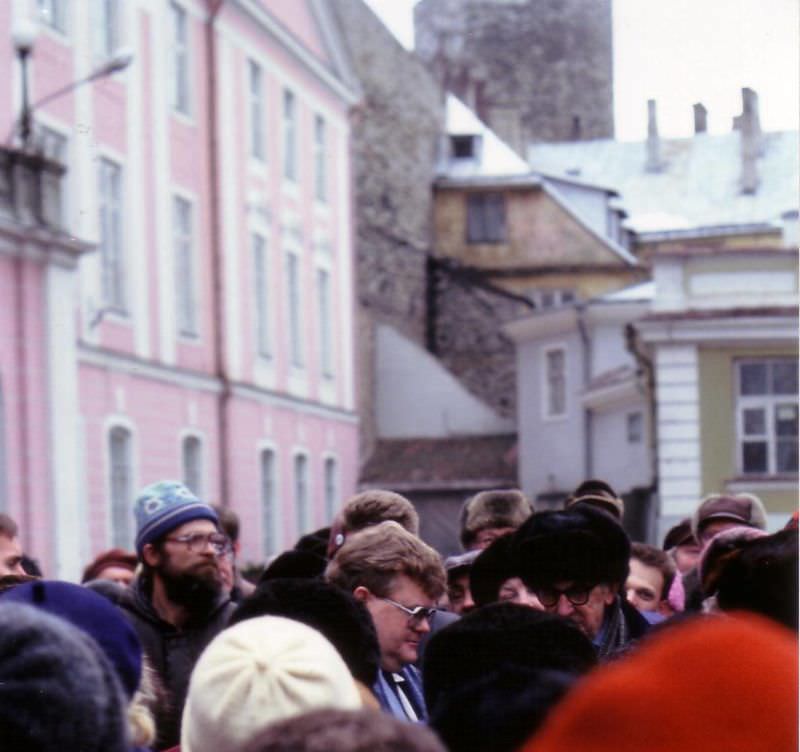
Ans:
[{"label": "lower of two black heads directly left of the red-orange hat", "polygon": [[505,665],[446,696],[430,726],[449,752],[487,748],[482,746],[487,740],[492,752],[514,752],[574,682],[574,674]]}]

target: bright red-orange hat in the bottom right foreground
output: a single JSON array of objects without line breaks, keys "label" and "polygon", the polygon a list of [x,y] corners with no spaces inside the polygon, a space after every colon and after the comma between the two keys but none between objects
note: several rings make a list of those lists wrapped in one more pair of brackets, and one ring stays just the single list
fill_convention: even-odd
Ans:
[{"label": "bright red-orange hat in the bottom right foreground", "polygon": [[687,621],[586,677],[522,752],[797,752],[797,657],[754,614]]}]

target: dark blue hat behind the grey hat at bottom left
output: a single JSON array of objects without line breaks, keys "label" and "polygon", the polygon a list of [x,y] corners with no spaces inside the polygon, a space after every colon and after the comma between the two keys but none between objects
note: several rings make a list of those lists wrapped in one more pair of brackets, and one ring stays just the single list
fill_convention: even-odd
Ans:
[{"label": "dark blue hat behind the grey hat at bottom left", "polygon": [[37,580],[9,590],[0,603],[25,603],[61,617],[94,639],[117,672],[128,699],[139,688],[142,645],[133,627],[98,593],[70,582]]}]

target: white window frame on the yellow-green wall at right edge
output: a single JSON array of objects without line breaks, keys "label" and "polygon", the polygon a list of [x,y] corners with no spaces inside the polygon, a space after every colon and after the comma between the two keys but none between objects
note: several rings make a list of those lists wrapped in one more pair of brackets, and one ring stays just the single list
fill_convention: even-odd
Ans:
[{"label": "white window frame on the yellow-green wall at right edge", "polygon": [[[797,361],[788,357],[764,357],[764,358],[741,358],[734,361],[734,388],[736,403],[736,469],[741,477],[796,477],[796,470],[778,470],[777,468],[777,444],[775,412],[779,406],[792,406],[795,415],[798,410],[798,395],[776,394],[771,391],[770,375],[771,364],[791,363],[797,366]],[[741,367],[751,364],[767,364],[767,389],[765,394],[743,395],[741,384]],[[744,413],[747,409],[761,409],[764,411],[764,432],[745,434]],[[766,470],[746,471],[744,467],[744,444],[746,441],[764,442],[767,445],[767,468]]]}]

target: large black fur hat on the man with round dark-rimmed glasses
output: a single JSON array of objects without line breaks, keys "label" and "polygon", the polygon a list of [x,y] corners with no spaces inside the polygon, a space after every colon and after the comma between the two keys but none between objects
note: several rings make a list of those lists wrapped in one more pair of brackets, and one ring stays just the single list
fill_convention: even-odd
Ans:
[{"label": "large black fur hat on the man with round dark-rimmed glasses", "polygon": [[541,512],[514,535],[514,568],[535,590],[558,582],[604,583],[618,588],[628,578],[631,545],[611,515],[578,504]]}]

